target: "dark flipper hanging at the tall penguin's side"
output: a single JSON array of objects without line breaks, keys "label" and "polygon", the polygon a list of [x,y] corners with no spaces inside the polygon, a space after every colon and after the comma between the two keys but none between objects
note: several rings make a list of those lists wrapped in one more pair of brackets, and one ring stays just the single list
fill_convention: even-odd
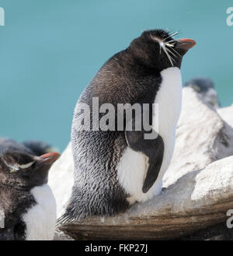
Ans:
[{"label": "dark flipper hanging at the tall penguin's side", "polygon": [[[153,130],[152,132],[155,131]],[[155,139],[145,139],[145,135],[148,135],[148,132],[125,131],[125,139],[128,146],[148,157],[148,170],[146,170],[142,188],[143,193],[147,193],[157,180],[164,155],[164,142],[162,137],[158,134],[155,136],[154,134]]]}]

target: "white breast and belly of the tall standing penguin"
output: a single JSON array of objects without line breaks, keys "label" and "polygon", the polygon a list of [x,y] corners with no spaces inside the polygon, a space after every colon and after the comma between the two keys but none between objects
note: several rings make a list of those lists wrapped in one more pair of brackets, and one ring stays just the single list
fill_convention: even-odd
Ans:
[{"label": "white breast and belly of the tall standing penguin", "polygon": [[[142,192],[148,159],[127,147],[117,167],[118,180],[125,191],[130,194],[130,203],[144,202],[162,189],[162,177],[172,160],[176,139],[176,125],[179,120],[182,103],[182,79],[179,68],[167,68],[161,72],[162,84],[155,97],[158,106],[158,118],[153,119],[153,128],[158,130],[165,143],[165,152],[161,170],[155,184],[147,193]],[[156,126],[155,121],[158,120]]]}]

